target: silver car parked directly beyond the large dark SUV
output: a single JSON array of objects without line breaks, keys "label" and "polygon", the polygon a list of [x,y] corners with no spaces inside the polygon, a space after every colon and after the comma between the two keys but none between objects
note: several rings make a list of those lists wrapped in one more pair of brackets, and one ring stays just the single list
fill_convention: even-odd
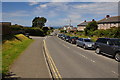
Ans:
[{"label": "silver car parked directly beyond the large dark SUV", "polygon": [[84,49],[94,49],[94,42],[88,38],[79,38],[76,40],[76,45]]}]

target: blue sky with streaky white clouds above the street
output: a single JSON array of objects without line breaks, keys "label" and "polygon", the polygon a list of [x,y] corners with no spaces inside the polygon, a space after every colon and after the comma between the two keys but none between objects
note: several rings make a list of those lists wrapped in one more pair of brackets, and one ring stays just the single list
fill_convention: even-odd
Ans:
[{"label": "blue sky with streaky white clouds above the street", "polygon": [[34,17],[45,17],[46,26],[76,27],[84,20],[118,15],[117,2],[2,2],[2,21],[32,26]]}]

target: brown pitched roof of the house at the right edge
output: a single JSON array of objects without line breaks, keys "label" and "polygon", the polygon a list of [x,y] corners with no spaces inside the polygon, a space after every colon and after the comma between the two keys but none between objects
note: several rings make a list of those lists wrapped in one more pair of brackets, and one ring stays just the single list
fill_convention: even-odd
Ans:
[{"label": "brown pitched roof of the house at the right edge", "polygon": [[120,16],[113,16],[104,18],[98,21],[98,23],[120,23]]}]

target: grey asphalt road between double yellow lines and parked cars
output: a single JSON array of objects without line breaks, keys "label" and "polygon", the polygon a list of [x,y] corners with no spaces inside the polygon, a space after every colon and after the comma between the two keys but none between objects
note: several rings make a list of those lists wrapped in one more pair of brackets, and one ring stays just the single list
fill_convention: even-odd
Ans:
[{"label": "grey asphalt road between double yellow lines and parked cars", "polygon": [[46,47],[62,78],[118,78],[118,62],[84,50],[56,36],[45,39]]}]

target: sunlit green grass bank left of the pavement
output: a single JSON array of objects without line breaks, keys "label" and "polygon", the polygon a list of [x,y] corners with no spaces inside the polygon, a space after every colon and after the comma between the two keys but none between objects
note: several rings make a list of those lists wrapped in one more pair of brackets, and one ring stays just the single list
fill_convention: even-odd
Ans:
[{"label": "sunlit green grass bank left of the pavement", "polygon": [[27,48],[32,39],[22,34],[15,35],[13,38],[5,40],[2,44],[2,73],[7,74],[15,59]]}]

